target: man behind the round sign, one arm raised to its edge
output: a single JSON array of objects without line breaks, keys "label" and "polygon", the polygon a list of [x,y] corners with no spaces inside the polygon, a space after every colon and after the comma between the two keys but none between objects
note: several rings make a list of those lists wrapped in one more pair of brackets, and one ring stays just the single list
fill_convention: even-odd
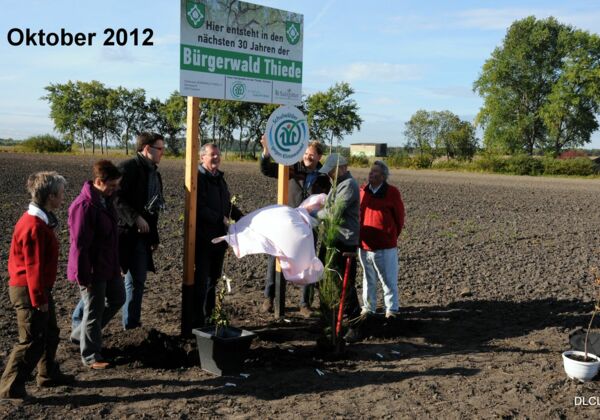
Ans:
[{"label": "man behind the round sign, one arm raised to its edge", "polygon": [[[260,142],[263,146],[263,153],[260,158],[260,171],[263,175],[277,178],[279,174],[278,165],[270,159],[266,137],[263,136]],[[331,183],[327,174],[319,173],[322,156],[323,145],[319,141],[313,140],[308,144],[302,160],[290,167],[290,179],[288,182],[288,205],[290,207],[298,207],[311,194],[327,194],[329,192]],[[316,238],[317,236],[315,235],[315,240]],[[275,297],[275,257],[269,255],[268,258],[265,300],[261,307],[262,312],[273,311],[273,298]],[[305,317],[311,315],[310,301],[313,288],[313,285],[302,287],[300,313]]]}]

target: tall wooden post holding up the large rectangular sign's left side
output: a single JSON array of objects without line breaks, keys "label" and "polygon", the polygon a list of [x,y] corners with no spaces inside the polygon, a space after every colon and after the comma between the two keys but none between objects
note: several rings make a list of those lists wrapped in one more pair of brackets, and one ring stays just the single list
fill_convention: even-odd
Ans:
[{"label": "tall wooden post holding up the large rectangular sign's left side", "polygon": [[192,332],[194,316],[194,262],[196,252],[196,206],[198,191],[198,145],[200,135],[200,99],[187,98],[185,136],[185,210],[183,239],[183,285],[181,294],[181,335]]}]

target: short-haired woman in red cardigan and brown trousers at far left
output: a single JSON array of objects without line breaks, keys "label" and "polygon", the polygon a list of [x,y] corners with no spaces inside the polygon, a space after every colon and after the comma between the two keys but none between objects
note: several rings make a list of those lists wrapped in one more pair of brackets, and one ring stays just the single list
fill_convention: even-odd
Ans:
[{"label": "short-haired woman in red cardigan and brown trousers at far left", "polygon": [[25,398],[25,382],[37,365],[38,386],[73,381],[54,360],[59,329],[52,286],[58,265],[57,220],[53,210],[63,200],[67,182],[56,172],[38,172],[27,180],[29,209],[21,216],[8,256],[10,301],[17,311],[19,341],[0,379],[0,398]]}]

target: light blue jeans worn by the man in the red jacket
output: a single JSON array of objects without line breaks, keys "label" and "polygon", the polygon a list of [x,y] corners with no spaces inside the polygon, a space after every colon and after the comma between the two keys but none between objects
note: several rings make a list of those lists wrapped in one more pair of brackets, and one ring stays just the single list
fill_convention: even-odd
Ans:
[{"label": "light blue jeans worn by the man in the red jacket", "polygon": [[398,248],[366,251],[358,249],[358,258],[363,268],[363,310],[377,309],[377,282],[383,288],[386,312],[397,312],[398,302]]}]

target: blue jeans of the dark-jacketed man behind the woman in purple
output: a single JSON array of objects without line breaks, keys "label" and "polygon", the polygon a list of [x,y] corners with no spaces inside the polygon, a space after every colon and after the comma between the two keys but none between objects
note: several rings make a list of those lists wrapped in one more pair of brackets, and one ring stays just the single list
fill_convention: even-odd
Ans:
[{"label": "blue jeans of the dark-jacketed man behind the woman in purple", "polygon": [[142,297],[148,273],[148,247],[145,238],[135,242],[129,271],[125,275],[125,305],[123,305],[123,328],[142,325]]}]

